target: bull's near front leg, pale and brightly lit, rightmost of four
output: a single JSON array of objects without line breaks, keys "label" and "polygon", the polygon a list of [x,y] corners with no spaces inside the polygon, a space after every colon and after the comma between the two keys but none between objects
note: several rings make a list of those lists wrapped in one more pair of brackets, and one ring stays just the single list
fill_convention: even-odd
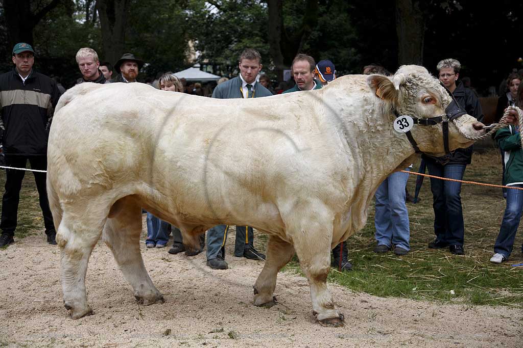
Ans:
[{"label": "bull's near front leg, pale and brightly lit, rightmost of four", "polygon": [[[333,218],[324,208],[301,211],[306,217],[299,228],[292,231],[294,249],[300,259],[300,267],[311,287],[312,309],[316,320],[324,325],[343,326],[343,315],[334,308],[334,299],[327,290],[327,275],[331,269],[331,243]],[[290,232],[290,231],[289,231]]]}]

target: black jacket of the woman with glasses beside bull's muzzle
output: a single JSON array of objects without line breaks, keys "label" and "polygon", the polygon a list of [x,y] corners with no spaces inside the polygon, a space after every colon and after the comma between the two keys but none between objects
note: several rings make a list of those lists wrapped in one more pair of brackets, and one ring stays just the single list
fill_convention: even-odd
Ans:
[{"label": "black jacket of the woman with glasses beside bull's muzzle", "polygon": [[[483,122],[480,100],[470,88],[465,88],[463,82],[460,82],[452,94],[458,104],[467,111],[467,114],[475,117],[477,121]],[[470,164],[472,160],[472,146],[467,149],[456,149],[451,152],[450,157],[442,156],[435,159],[423,154],[422,158],[425,161],[439,162],[440,164]]]}]

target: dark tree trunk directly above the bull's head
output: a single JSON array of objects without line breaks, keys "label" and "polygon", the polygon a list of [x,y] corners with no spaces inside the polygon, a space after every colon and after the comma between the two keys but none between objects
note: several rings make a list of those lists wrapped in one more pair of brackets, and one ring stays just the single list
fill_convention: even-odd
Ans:
[{"label": "dark tree trunk directly above the bull's head", "polygon": [[417,0],[396,0],[398,63],[423,64],[425,19]]}]

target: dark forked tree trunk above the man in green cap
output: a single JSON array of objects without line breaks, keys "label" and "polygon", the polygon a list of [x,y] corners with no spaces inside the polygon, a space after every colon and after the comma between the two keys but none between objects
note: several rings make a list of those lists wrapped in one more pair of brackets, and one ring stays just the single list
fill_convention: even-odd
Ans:
[{"label": "dark forked tree trunk above the man in green cap", "polygon": [[13,47],[18,42],[33,44],[32,31],[38,22],[55,8],[61,0],[52,0],[48,5],[31,12],[30,0],[4,0],[4,17],[9,37],[9,45]]}]

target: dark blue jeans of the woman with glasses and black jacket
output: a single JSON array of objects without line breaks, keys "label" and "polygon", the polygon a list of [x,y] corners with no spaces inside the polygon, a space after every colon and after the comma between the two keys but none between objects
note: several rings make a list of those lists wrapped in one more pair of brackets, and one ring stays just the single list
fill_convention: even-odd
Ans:
[{"label": "dark blue jeans of the woman with glasses and black jacket", "polygon": [[[426,161],[430,175],[449,179],[463,178],[465,164],[441,165],[436,161]],[[430,178],[433,195],[434,233],[436,240],[449,245],[463,246],[465,229],[461,207],[461,183]]]}]

